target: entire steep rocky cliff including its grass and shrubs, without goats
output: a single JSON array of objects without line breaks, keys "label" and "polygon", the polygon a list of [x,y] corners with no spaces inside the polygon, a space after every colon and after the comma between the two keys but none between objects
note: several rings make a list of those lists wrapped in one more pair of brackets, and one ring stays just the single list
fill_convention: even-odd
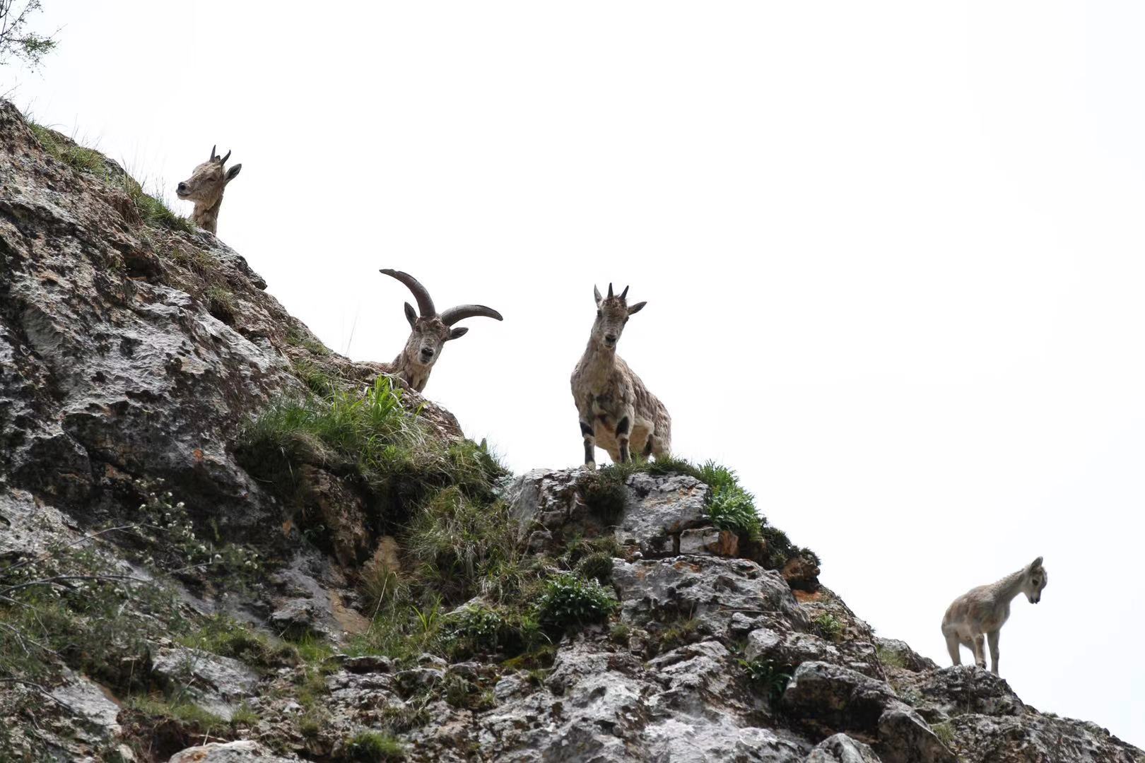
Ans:
[{"label": "entire steep rocky cliff including its grass and shrubs, without goats", "polygon": [[0,102],[0,760],[1145,760],[705,464],[506,475]]}]

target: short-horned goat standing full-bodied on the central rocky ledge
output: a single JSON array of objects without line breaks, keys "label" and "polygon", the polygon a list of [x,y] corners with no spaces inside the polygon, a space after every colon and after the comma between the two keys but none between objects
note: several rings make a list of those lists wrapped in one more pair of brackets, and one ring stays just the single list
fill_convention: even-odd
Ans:
[{"label": "short-horned goat standing full-bodied on the central rocky ledge", "polygon": [[627,305],[627,287],[619,296],[597,299],[597,320],[592,325],[589,347],[572,371],[572,399],[581,418],[584,438],[584,463],[597,468],[595,450],[608,451],[616,463],[631,460],[631,450],[657,458],[672,447],[672,419],[668,408],[648,391],[640,377],[616,355],[616,344],[629,317],[647,302]]}]

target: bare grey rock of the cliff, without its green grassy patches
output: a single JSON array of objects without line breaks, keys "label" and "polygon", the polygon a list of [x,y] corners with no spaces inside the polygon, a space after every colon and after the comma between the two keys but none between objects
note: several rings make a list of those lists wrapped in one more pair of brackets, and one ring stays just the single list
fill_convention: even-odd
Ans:
[{"label": "bare grey rock of the cliff, without its green grassy patches", "polygon": [[[190,523],[278,549],[274,569],[224,591],[239,599],[228,611],[271,645],[281,635],[337,644],[376,611],[354,610],[352,579],[364,569],[382,580],[409,559],[321,463],[307,467],[303,500],[331,543],[308,543],[243,469],[236,437],[248,414],[302,389],[307,364],[350,384],[370,383],[377,366],[323,348],[214,236],[145,223],[105,164],[90,174],[53,158],[0,102],[0,572],[78,545],[147,499],[136,480],[163,478],[185,496]],[[460,437],[449,412],[406,399],[439,437]],[[635,472],[605,487],[601,498],[599,475],[583,469],[504,486],[527,559],[551,564],[570,539],[609,548],[598,551],[605,569],[616,555],[600,578],[616,597],[609,625],[558,634],[532,662],[330,646],[313,663],[282,663],[235,634],[188,645],[159,629],[132,635],[145,642],[137,661],[101,666],[85,663],[90,644],[69,643],[68,657],[93,673],[126,673],[135,696],[79,670],[46,686],[0,682],[0,716],[53,709],[34,728],[0,717],[0,758],[15,732],[11,760],[31,741],[46,760],[172,763],[1143,760],[1093,724],[1028,707],[996,676],[939,668],[876,637],[819,585],[812,559],[764,569],[758,543],[712,525],[709,488],[694,477]],[[227,609],[221,595],[180,595],[173,617]],[[427,628],[439,617],[419,615]],[[132,702],[148,692],[172,704],[172,720],[151,730],[155,746],[129,747]],[[176,733],[187,724],[194,734]]]}]

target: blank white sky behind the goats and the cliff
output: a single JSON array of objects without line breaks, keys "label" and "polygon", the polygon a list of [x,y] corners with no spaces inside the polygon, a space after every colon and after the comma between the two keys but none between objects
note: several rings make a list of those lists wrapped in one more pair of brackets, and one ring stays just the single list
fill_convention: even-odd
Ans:
[{"label": "blank white sky behind the goats and the cliff", "polygon": [[46,5],[13,100],[168,191],[232,149],[219,232],[327,344],[402,347],[381,267],[490,304],[429,396],[574,466],[631,284],[678,453],[940,663],[949,601],[1044,555],[1003,676],[1145,746],[1145,6]]}]

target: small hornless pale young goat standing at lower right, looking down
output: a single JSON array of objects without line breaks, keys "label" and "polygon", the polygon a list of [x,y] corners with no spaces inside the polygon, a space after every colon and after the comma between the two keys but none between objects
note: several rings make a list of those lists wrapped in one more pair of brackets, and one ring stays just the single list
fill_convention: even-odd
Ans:
[{"label": "small hornless pale young goat standing at lower right, looking down", "polygon": [[998,671],[998,633],[1010,618],[1010,602],[1025,594],[1030,604],[1042,601],[1042,589],[1049,581],[1042,557],[989,586],[979,586],[954,599],[942,617],[942,635],[955,665],[962,665],[958,646],[974,653],[974,663],[986,668],[984,642],[990,645],[990,670]]}]

